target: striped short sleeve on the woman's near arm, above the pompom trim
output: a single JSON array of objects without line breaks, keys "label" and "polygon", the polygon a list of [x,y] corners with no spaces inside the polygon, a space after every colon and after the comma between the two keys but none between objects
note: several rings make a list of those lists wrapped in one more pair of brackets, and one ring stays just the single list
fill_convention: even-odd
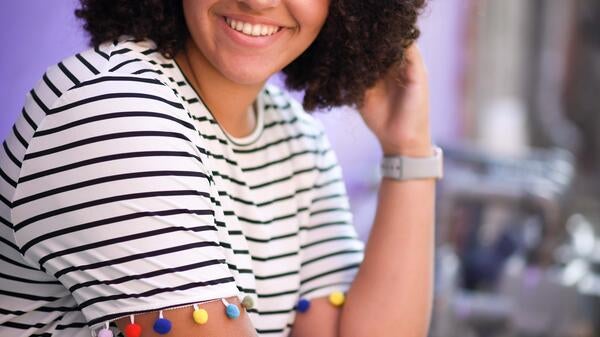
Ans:
[{"label": "striped short sleeve on the woman's near arm, above the pompom trim", "polygon": [[11,213],[17,245],[92,328],[238,294],[188,119],[157,80],[99,75],[63,94],[29,144]]}]

